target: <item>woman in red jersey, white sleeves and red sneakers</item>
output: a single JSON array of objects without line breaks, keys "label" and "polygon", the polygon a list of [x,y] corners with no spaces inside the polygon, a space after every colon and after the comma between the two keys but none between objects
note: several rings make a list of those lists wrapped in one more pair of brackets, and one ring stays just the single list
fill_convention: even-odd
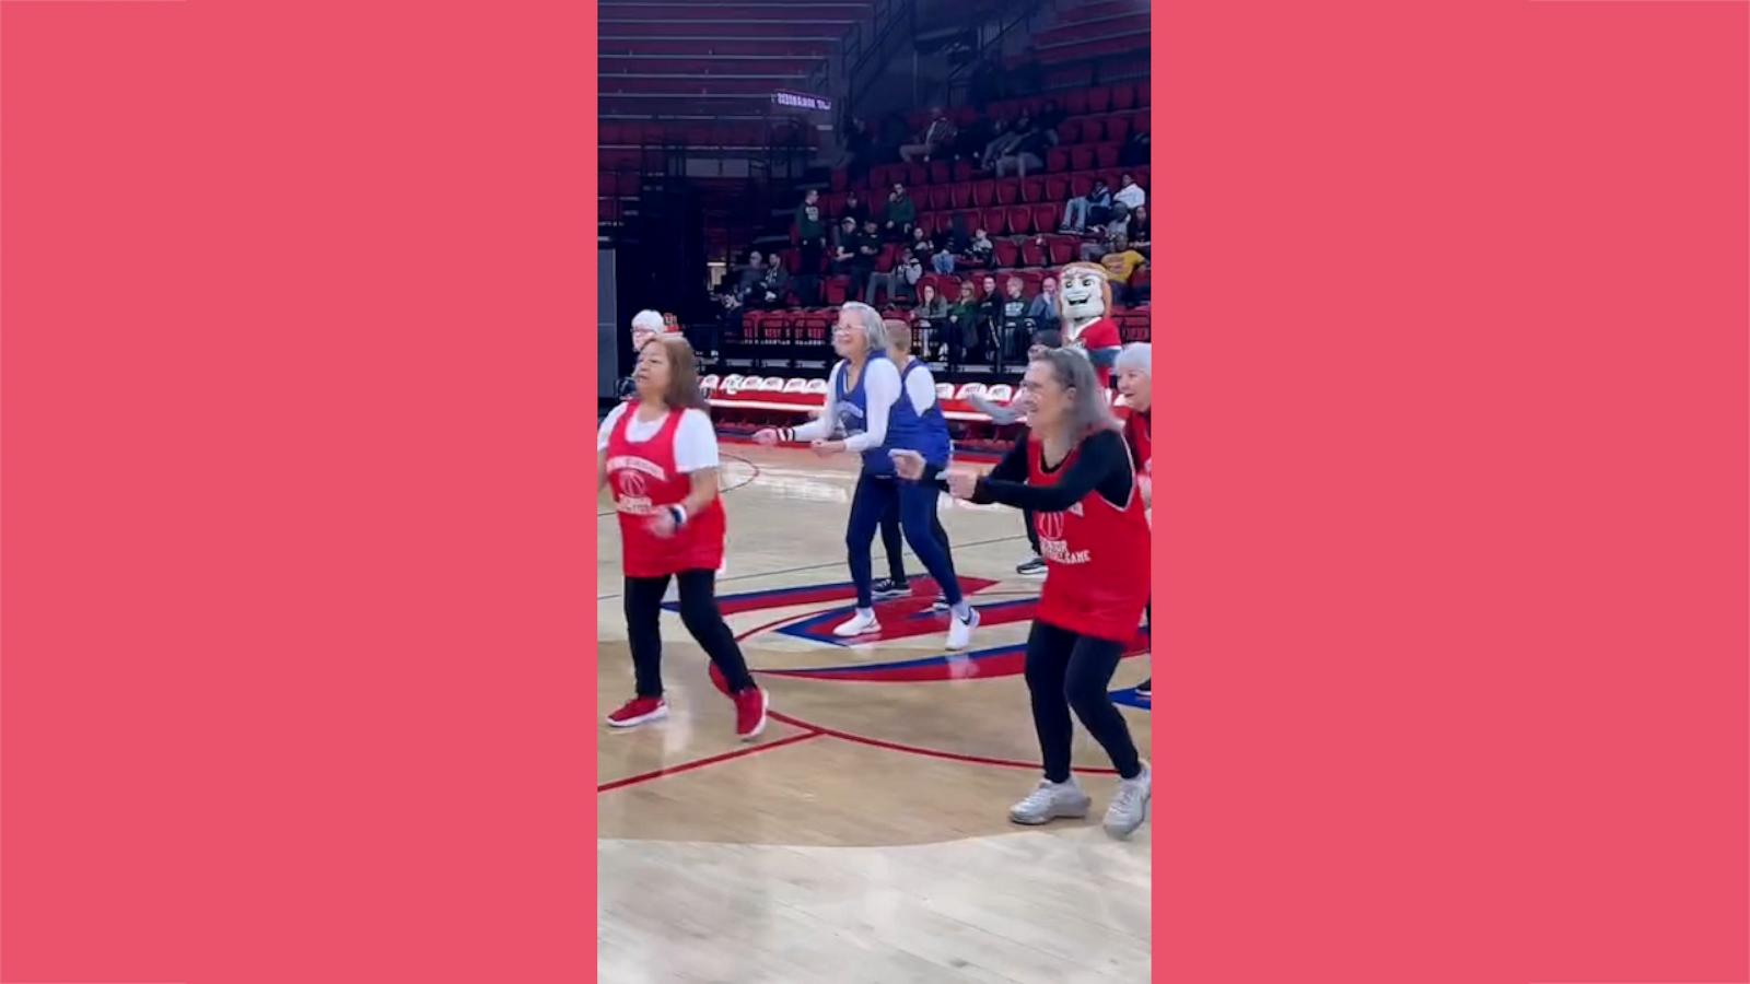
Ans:
[{"label": "woman in red jersey, white sleeves and red sneakers", "polygon": [[626,639],[637,695],[607,716],[630,728],[668,716],[662,686],[662,601],[679,581],[681,622],[716,664],[735,700],[735,732],[752,741],[766,723],[766,697],[747,672],[735,634],[718,611],[724,517],[718,499],[718,434],[702,410],[698,364],[677,334],[639,350],[637,397],[597,431],[597,474],[620,513]]}]

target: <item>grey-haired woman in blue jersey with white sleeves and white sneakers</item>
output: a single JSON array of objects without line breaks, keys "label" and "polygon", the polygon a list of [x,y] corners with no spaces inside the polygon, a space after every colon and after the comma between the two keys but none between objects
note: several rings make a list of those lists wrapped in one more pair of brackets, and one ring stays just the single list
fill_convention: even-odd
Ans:
[{"label": "grey-haired woman in blue jersey with white sleeves and white sneakers", "polygon": [[[826,411],[802,427],[754,434],[758,443],[768,446],[779,441],[810,441],[819,455],[856,452],[863,457],[863,474],[858,478],[845,527],[850,580],[858,585],[858,613],[833,629],[833,634],[854,637],[880,630],[870,548],[882,515],[898,503],[905,539],[947,597],[948,650],[964,650],[978,625],[978,613],[961,595],[954,560],[933,532],[940,490],[933,483],[901,481],[892,462],[894,453],[910,453],[924,459],[928,473],[948,466],[952,441],[942,408],[936,406],[934,385],[924,385],[928,376],[901,376],[887,357],[887,327],[868,305],[847,303],[838,310],[833,350],[840,362],[826,382]],[[833,439],[835,429],[844,431],[844,439]]]}]

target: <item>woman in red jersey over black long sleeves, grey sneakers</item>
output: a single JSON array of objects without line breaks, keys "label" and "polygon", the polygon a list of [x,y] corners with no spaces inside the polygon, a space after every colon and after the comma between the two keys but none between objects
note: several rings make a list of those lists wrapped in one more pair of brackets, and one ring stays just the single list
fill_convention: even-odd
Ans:
[{"label": "woman in red jersey over black long sleeves, grey sneakers", "polygon": [[[1045,777],[1008,816],[1026,825],[1087,816],[1092,800],[1069,770],[1073,711],[1118,770],[1106,832],[1129,837],[1148,816],[1150,776],[1108,686],[1148,604],[1136,466],[1087,357],[1040,352],[1020,385],[1026,438],[987,476],[943,480],[957,499],[1031,510],[1048,569],[1026,671]],[[922,476],[915,462],[901,467],[905,478]]]}]

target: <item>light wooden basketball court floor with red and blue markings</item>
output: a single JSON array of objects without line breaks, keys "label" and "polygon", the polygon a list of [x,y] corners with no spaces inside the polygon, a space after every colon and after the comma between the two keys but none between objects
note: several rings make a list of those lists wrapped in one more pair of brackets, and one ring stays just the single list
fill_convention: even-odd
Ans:
[{"label": "light wooden basketball court floor with red and blue markings", "polygon": [[[844,646],[844,524],[854,460],[724,448],[728,569],[719,601],[774,721],[754,744],[677,615],[663,622],[672,716],[600,727],[598,973],[639,982],[1148,980],[1150,826],[1099,828],[1115,777],[1078,730],[1087,821],[1008,823],[1038,781],[1020,678],[1043,581],[1018,513],[943,501],[954,559],[984,615],[966,657],[915,557],[915,601],[880,606],[884,637]],[[598,508],[600,707],[632,693],[620,532]],[[877,576],[886,562],[877,541]],[[1115,695],[1141,748],[1146,657]],[[1148,753],[1144,751],[1144,758]],[[1157,798],[1157,802],[1166,802]]]}]

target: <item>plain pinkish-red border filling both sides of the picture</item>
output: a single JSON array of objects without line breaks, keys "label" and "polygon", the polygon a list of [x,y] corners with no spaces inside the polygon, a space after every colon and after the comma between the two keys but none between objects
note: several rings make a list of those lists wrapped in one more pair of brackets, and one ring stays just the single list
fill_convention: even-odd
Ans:
[{"label": "plain pinkish-red border filling both sides of the picture", "polygon": [[[1750,977],[1750,7],[1155,14],[1157,975]],[[593,9],[0,32],[0,979],[590,979]]]}]

